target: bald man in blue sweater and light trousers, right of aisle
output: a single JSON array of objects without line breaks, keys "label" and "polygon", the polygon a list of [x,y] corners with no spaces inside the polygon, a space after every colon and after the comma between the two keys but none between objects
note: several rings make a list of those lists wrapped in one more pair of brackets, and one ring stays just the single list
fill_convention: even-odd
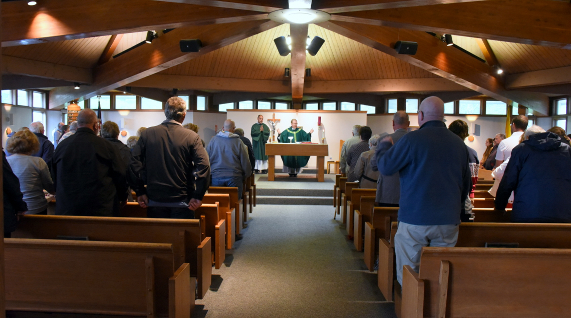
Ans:
[{"label": "bald man in blue sweater and light trousers, right of aisle", "polygon": [[418,272],[423,246],[452,247],[458,239],[460,215],[471,188],[468,148],[443,122],[444,103],[432,96],[419,107],[420,129],[393,145],[391,137],[377,145],[381,174],[399,173],[399,229],[395,235],[397,280],[403,266]]}]

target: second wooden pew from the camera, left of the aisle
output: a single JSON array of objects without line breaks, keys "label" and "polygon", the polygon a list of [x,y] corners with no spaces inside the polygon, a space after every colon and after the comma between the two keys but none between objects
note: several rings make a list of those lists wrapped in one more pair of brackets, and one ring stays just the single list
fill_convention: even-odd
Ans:
[{"label": "second wooden pew from the camera, left of the aisle", "polygon": [[73,217],[68,215],[24,215],[13,238],[58,239],[88,237],[104,242],[172,244],[175,267],[190,264],[196,277],[199,299],[211,284],[211,238],[202,236],[200,221],[192,219],[148,219],[113,217]]}]

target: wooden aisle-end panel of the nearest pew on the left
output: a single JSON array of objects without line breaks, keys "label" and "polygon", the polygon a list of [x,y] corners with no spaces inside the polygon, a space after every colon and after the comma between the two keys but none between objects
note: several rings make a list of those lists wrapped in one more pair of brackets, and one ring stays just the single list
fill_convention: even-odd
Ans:
[{"label": "wooden aisle-end panel of the nearest pew on the left", "polygon": [[184,263],[168,279],[168,317],[188,318],[194,309],[196,280],[190,277],[190,264]]}]

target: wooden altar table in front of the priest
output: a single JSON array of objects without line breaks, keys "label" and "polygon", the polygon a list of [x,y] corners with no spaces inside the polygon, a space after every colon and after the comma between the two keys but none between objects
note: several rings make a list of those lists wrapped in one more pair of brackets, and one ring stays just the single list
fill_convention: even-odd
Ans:
[{"label": "wooden altar table in front of the priest", "polygon": [[317,182],[324,182],[325,157],[329,156],[327,144],[266,144],[268,156],[268,181],[275,180],[276,156],[315,156],[317,157]]}]

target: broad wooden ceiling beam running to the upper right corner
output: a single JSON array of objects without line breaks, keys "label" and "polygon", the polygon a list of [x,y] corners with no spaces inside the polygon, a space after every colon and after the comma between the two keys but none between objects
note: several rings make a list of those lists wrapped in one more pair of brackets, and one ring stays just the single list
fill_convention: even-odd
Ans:
[{"label": "broad wooden ceiling beam running to the upper right corner", "polygon": [[490,0],[347,12],[331,20],[571,49],[570,16],[569,2]]}]

